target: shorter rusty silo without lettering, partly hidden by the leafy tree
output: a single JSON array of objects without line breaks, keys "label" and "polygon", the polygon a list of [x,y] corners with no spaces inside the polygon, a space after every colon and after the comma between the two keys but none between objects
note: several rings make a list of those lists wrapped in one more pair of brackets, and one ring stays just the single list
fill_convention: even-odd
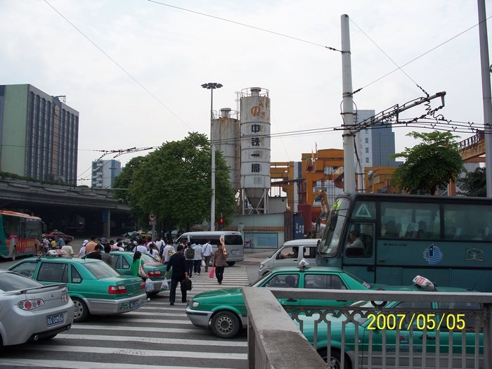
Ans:
[{"label": "shorter rusty silo without lettering, partly hidden by the leafy tree", "polygon": [[231,170],[230,181],[234,191],[240,187],[239,181],[239,119],[238,112],[222,108],[219,119],[212,124],[212,141],[216,150],[222,153]]}]

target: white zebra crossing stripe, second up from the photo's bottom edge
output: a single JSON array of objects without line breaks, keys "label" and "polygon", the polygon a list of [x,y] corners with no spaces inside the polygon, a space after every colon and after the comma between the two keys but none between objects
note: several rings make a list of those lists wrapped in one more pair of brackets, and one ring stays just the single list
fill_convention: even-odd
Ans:
[{"label": "white zebra crossing stripe, second up from the photo's bottom edge", "polygon": [[[171,351],[171,350],[145,350],[134,348],[118,348],[118,347],[89,347],[89,346],[67,346],[64,344],[49,345],[49,344],[28,344],[25,347],[27,350],[37,351],[61,351],[61,352],[78,352],[86,354],[107,354],[107,355],[126,355],[126,356],[145,356],[145,357],[161,357],[161,358],[217,358],[221,360],[247,360],[247,354],[238,354],[233,352],[209,352],[209,351]],[[3,361],[2,361],[3,363]],[[117,364],[119,366],[119,364]],[[114,367],[115,364],[112,365]],[[138,366],[138,365],[137,365]],[[69,366],[70,368],[70,366]]]}]

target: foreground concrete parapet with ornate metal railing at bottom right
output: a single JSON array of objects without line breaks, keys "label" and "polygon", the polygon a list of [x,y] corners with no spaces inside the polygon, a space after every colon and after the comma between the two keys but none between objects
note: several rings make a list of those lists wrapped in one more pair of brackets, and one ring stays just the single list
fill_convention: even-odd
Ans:
[{"label": "foreground concrete parapet with ornate metal railing at bottom right", "polygon": [[[290,368],[278,361],[285,356],[268,356],[280,347],[283,353],[295,352],[295,365],[303,366],[317,351],[325,360],[330,358],[330,368],[340,369],[492,368],[491,293],[244,287],[243,294],[248,309],[249,368]],[[288,302],[285,310],[277,299]],[[309,306],[309,300],[325,300],[327,305]],[[385,306],[343,306],[354,301]],[[426,304],[427,309],[420,309]],[[289,335],[281,328],[288,328]],[[289,338],[300,332],[311,350],[306,349],[308,342]],[[258,357],[268,360],[258,361]]]}]

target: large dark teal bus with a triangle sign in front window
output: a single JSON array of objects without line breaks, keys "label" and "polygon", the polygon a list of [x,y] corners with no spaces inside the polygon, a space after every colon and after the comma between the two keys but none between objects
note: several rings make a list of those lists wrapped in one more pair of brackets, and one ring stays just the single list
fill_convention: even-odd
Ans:
[{"label": "large dark teal bus with a triangle sign in front window", "polygon": [[369,283],[492,292],[492,200],[352,193],[336,199],[316,264]]}]

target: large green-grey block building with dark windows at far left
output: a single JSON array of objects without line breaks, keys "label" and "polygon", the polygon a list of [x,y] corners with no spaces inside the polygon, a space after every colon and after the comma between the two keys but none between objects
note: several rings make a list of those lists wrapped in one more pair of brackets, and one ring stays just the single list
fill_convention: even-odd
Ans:
[{"label": "large green-grey block building with dark windows at far left", "polygon": [[0,171],[77,183],[79,112],[30,84],[0,85]]}]

